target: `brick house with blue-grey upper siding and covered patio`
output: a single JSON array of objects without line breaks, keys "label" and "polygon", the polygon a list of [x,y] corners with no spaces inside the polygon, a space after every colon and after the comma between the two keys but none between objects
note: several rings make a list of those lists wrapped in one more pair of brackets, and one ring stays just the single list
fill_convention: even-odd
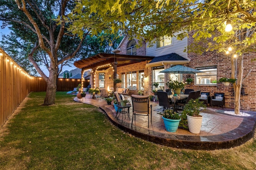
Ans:
[{"label": "brick house with blue-grey upper siding and covered patio", "polygon": [[[221,77],[231,77],[229,56],[214,51],[205,52],[202,55],[184,52],[185,47],[193,43],[192,33],[188,38],[184,38],[181,41],[175,37],[164,37],[162,41],[156,41],[151,46],[149,46],[148,42],[140,42],[142,45],[136,48],[135,45],[138,43],[138,40],[130,39],[129,36],[126,36],[118,48],[112,51],[114,54],[111,54],[111,56],[114,59],[106,56],[105,58],[102,57],[104,58],[103,60],[99,55],[98,57],[96,55],[94,58],[76,61],[74,65],[82,68],[82,72],[90,69],[91,76],[94,76],[94,78],[90,78],[90,83],[94,85],[94,88],[129,88],[130,95],[137,94],[138,90],[142,90],[144,95],[153,95],[153,82],[158,82],[158,88],[166,90],[168,88],[166,87],[166,82],[170,79],[185,81],[186,78],[191,77],[194,81],[191,84],[187,84],[185,88],[210,92],[210,96],[213,96],[214,92],[224,92],[226,98],[225,107],[234,108],[233,86],[224,86],[222,83],[216,83],[216,80]],[[121,60],[122,57],[123,59]],[[255,57],[255,54],[244,55],[244,76],[251,67],[256,68],[256,63],[251,62],[251,59]],[[101,62],[100,59],[102,59]],[[98,61],[98,63],[87,64],[90,60],[93,62]],[[131,62],[133,60],[136,61]],[[104,66],[106,64],[112,64],[113,66]],[[161,70],[176,64],[202,70],[204,73],[183,75],[160,73]],[[97,70],[96,66],[102,66],[104,69]],[[122,79],[122,83],[116,84],[115,87],[113,80],[116,77]],[[256,111],[255,78],[256,70],[254,69],[243,81],[245,94],[241,96],[241,107],[244,110]]]}]

